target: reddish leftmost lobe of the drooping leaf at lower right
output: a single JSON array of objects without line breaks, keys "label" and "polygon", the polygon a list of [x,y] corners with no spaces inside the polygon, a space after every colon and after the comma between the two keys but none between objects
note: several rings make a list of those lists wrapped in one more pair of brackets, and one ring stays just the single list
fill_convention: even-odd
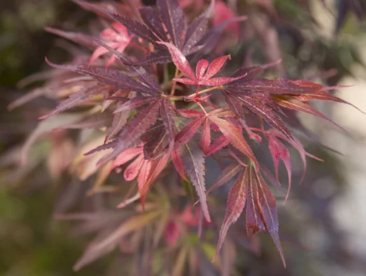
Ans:
[{"label": "reddish leftmost lobe of the drooping leaf at lower right", "polygon": [[249,181],[250,170],[251,168],[247,167],[245,170],[242,171],[242,173],[240,173],[238,179],[236,179],[233,187],[229,192],[229,196],[227,197],[227,211],[225,213],[224,221],[222,222],[218,240],[218,247],[216,248],[213,262],[218,257],[218,253],[220,252],[222,243],[227,236],[227,230],[229,229],[229,226],[231,226],[231,224],[238,220],[242,213],[242,210],[244,209],[245,201],[247,200],[247,182]]}]

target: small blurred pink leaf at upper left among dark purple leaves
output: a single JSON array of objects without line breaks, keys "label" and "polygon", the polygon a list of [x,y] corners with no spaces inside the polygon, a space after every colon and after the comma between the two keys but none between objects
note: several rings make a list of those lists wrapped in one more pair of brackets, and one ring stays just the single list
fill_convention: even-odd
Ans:
[{"label": "small blurred pink leaf at upper left among dark purple leaves", "polygon": [[[117,50],[117,52],[124,52],[128,44],[131,42],[133,35],[128,34],[128,30],[125,26],[118,22],[112,23],[113,28],[106,28],[100,34],[100,37],[106,41],[106,45],[110,48]],[[93,55],[90,57],[89,66],[94,63],[94,61],[110,51],[106,49],[104,46],[99,46],[93,52]],[[110,66],[116,59],[116,56],[112,54],[112,57],[108,60],[106,67]]]}]

